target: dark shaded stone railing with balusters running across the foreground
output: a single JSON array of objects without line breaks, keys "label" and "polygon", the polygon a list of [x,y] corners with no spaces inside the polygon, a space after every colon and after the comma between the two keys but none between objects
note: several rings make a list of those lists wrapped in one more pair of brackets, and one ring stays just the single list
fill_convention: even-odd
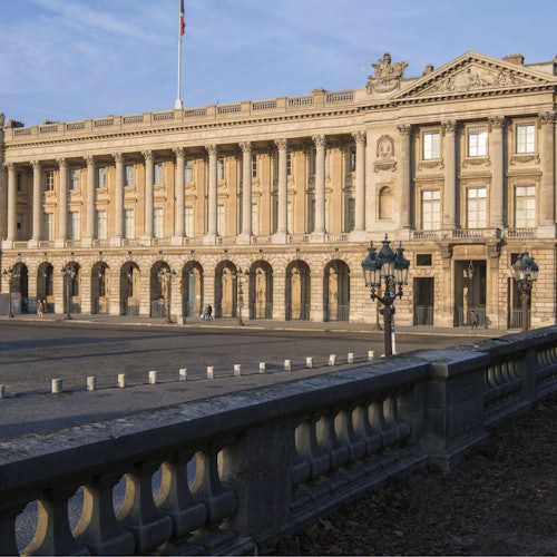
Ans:
[{"label": "dark shaded stone railing with balusters running across the foreground", "polygon": [[[391,476],[453,468],[556,389],[548,328],[7,439],[0,553],[254,554]],[[35,538],[19,547],[30,501]]]}]

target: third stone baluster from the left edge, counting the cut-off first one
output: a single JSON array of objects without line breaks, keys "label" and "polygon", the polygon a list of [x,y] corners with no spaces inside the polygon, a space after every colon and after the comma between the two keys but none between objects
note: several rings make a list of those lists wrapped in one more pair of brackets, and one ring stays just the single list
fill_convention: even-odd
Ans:
[{"label": "third stone baluster from the left edge, counting the cut-off first one", "polygon": [[135,539],[116,519],[113,489],[120,475],[95,476],[84,486],[81,518],[74,529],[78,541],[94,555],[130,555]]}]

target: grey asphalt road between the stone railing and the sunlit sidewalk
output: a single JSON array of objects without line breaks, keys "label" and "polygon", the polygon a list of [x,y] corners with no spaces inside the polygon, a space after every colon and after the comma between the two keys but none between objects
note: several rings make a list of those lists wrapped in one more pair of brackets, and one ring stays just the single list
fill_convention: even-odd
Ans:
[{"label": "grey asphalt road between the stone railing and the sunlit sidewalk", "polygon": [[[461,335],[397,334],[397,351],[467,343]],[[0,439],[148,410],[233,390],[338,371],[379,356],[383,335],[250,328],[149,328],[65,321],[0,321]],[[336,365],[329,365],[336,354]],[[313,369],[306,358],[313,358]],[[284,371],[284,361],[292,371]],[[265,362],[266,371],[260,372]],[[241,377],[234,377],[234,365]],[[214,379],[207,379],[207,367]],[[187,369],[187,381],[179,381]],[[157,371],[157,384],[149,384]],[[126,388],[118,388],[118,375]],[[87,378],[97,388],[87,391]],[[52,394],[52,379],[63,392]]]}]

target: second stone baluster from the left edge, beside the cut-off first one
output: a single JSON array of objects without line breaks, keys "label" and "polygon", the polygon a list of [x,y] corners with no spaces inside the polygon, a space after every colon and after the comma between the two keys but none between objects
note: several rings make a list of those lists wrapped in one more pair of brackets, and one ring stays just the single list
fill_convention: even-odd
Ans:
[{"label": "second stone baluster from the left edge, beside the cut-off first one", "polygon": [[38,499],[37,530],[22,555],[89,555],[87,547],[71,535],[68,499],[78,487],[51,488]]}]

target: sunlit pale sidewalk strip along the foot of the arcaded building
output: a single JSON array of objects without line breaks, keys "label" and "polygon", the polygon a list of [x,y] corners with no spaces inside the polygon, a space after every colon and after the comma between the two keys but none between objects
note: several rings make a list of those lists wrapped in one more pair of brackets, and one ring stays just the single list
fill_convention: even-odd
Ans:
[{"label": "sunlit pale sidewalk strip along the foot of the arcaded building", "polygon": [[[257,319],[248,320],[243,319],[243,325],[238,324],[236,317],[219,317],[209,322],[202,321],[199,317],[187,317],[185,324],[177,324],[176,317],[173,316],[173,323],[166,323],[165,317],[146,317],[141,315],[107,315],[107,314],[71,314],[71,321],[65,319],[65,314],[47,313],[42,320],[39,320],[35,314],[20,314],[14,315],[12,319],[0,316],[0,321],[18,321],[25,322],[57,322],[60,324],[70,325],[71,323],[87,323],[96,325],[109,326],[156,326],[156,328],[228,328],[242,329],[243,326],[250,330],[277,330],[277,331],[328,331],[333,333],[359,333],[359,334],[377,334],[383,335],[382,329],[372,323],[352,323],[348,321],[284,321],[274,319]],[[382,324],[381,324],[382,326]],[[518,330],[502,330],[502,329],[471,329],[469,326],[455,326],[455,328],[439,328],[432,325],[413,325],[413,326],[397,326],[395,333],[400,334],[423,334],[436,336],[463,336],[469,339],[491,339],[505,336],[508,334],[518,333]]]}]

